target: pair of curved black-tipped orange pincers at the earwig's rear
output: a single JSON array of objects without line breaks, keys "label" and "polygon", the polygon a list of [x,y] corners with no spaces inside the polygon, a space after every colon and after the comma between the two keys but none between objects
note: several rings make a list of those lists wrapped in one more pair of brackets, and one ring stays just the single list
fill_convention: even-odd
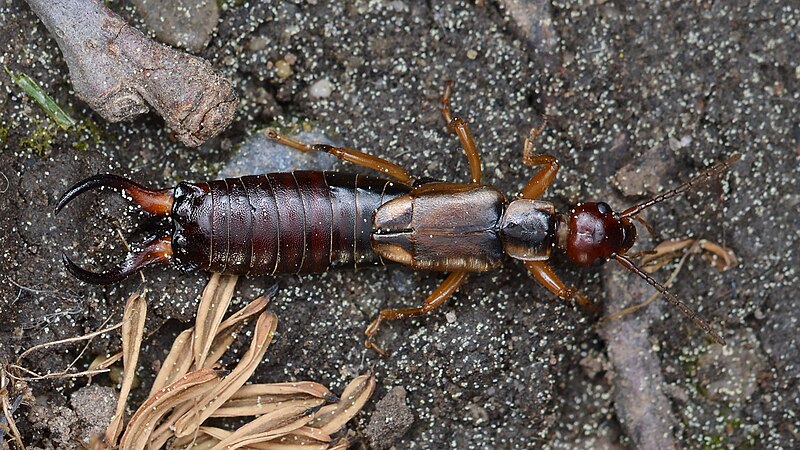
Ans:
[{"label": "pair of curved black-tipped orange pincers at the earwig's rear", "polygon": [[[64,206],[79,195],[101,187],[124,190],[131,196],[134,202],[151,214],[165,216],[172,210],[174,196],[171,189],[148,189],[127,178],[106,174],[95,175],[72,186],[64,193],[61,199],[59,199],[56,204],[55,214],[57,215]],[[145,243],[141,250],[129,254],[128,257],[116,267],[101,273],[90,272],[81,268],[72,262],[66,254],[63,255],[63,260],[67,270],[76,278],[86,283],[111,284],[127,278],[143,267],[168,261],[171,257],[172,239],[169,236],[164,236],[151,239]]]}]

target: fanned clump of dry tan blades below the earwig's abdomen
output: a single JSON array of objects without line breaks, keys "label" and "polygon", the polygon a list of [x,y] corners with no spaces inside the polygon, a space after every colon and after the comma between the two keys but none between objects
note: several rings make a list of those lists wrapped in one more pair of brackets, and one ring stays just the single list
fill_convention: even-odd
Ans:
[{"label": "fanned clump of dry tan blades below the earwig's abdomen", "polygon": [[[196,328],[176,338],[156,379],[156,387],[169,386],[153,392],[137,410],[120,448],[162,448],[171,439],[170,447],[193,450],[242,447],[344,450],[347,447],[347,439],[334,442],[332,434],[364,406],[375,388],[374,378],[362,376],[353,380],[341,401],[325,386],[314,382],[244,385],[264,357],[277,318],[264,311],[268,300],[260,297],[223,321],[235,282],[235,277],[212,277],[199,306],[204,312],[199,313]],[[220,372],[210,368],[179,378],[193,364],[194,367],[215,364],[233,342],[238,329],[255,315],[258,320],[250,347],[224,379]],[[338,404],[323,406],[337,401]],[[258,417],[238,430],[226,431],[202,425],[212,416]]]}]

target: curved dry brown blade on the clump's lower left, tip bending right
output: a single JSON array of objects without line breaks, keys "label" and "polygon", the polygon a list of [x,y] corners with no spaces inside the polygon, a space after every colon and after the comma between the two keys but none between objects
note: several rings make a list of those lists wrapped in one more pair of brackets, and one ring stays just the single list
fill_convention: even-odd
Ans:
[{"label": "curved dry brown blade on the clump's lower left, tip bending right", "polygon": [[216,386],[219,378],[220,375],[215,370],[197,370],[150,396],[128,422],[120,441],[120,449],[144,449],[153,428],[165,414],[177,405],[204,395]]}]

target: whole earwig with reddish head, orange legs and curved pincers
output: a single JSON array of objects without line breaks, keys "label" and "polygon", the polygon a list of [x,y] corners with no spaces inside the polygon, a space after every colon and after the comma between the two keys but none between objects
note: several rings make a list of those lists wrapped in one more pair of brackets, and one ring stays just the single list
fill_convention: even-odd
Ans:
[{"label": "whole earwig with reddish head, orange legs and curved pincers", "polygon": [[79,182],[58,201],[56,214],[78,195],[102,186],[122,189],[145,211],[171,216],[172,236],[157,237],[103,273],[80,268],[64,255],[77,278],[113,283],[151,264],[172,258],[206,271],[235,275],[318,273],[387,261],[415,270],[449,272],[421,306],[383,309],[366,329],[369,348],[384,320],[426,314],[447,300],[470,272],[498,268],[505,256],[523,262],[533,277],[558,297],[596,305],[555,274],[553,249],[582,266],[610,259],[636,273],[674,304],[714,341],[724,344],[708,323],[640,270],[626,255],[636,240],[633,220],[645,208],[673,198],[718,176],[739,159],[733,155],[675,189],[622,213],[606,203],[578,203],[568,214],[539,200],[559,170],[556,158],[534,154],[543,126],[525,139],[524,161],[541,168],[512,199],[481,184],[481,160],[466,122],[450,110],[452,83],[442,96],[442,116],[466,152],[469,183],[418,180],[387,160],[323,144],[304,144],[275,130],[268,135],[301,151],[322,151],[381,172],[389,179],[334,172],[291,172],[180,183],[153,190],[116,175]]}]

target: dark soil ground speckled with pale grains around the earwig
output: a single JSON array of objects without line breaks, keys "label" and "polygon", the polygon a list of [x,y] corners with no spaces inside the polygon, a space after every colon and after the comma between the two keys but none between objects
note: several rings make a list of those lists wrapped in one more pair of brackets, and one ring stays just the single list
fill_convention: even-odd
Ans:
[{"label": "dark soil ground speckled with pale grains around the earwig", "polygon": [[[241,302],[279,286],[271,303],[278,334],[257,381],[310,379],[340,392],[354,374],[372,371],[378,389],[353,425],[358,433],[372,414],[407,412],[375,411],[378,400],[402,387],[413,424],[399,438],[372,441],[381,448],[796,448],[800,7],[791,1],[479,3],[485,4],[222,2],[216,31],[197,54],[232,80],[241,104],[220,137],[187,148],[154,114],[111,124],[93,113],[74,97],[55,41],[28,6],[0,1],[0,62],[37,80],[90,124],[80,132],[55,131],[0,72],[0,361],[118,318],[142,284],[133,277],[90,286],[66,273],[62,252],[107,267],[124,253],[116,229],[131,242],[150,231],[137,226],[141,215],[125,213],[132,211],[127,201],[111,194],[87,196],[55,218],[53,206],[72,183],[99,172],[154,186],[213,178],[242,158],[242,149],[261,145],[265,127],[290,124],[391,159],[417,176],[467,181],[466,158],[439,111],[444,80],[453,79],[453,108],[472,127],[484,181],[509,196],[533,173],[522,163],[522,140],[544,115],[539,148],[561,161],[545,198],[561,209],[606,200],[622,210],[741,153],[723,181],[648,210],[655,239],[640,230],[640,249],[692,236],[733,250],[739,264],[725,272],[689,258],[673,288],[728,346],[711,343],[659,300],[645,316],[655,320],[642,320],[633,333],[644,337],[654,362],[648,370],[657,372],[642,376],[660,380],[667,406],[653,412],[644,401],[632,412],[624,399],[638,398],[638,387],[619,382],[626,368],[615,366],[616,350],[608,350],[614,340],[608,330],[616,328],[555,298],[509,260],[501,270],[470,277],[435,313],[385,326],[379,341],[393,355],[382,359],[362,345],[371,317],[380,308],[420,303],[442,278],[395,267],[243,280]],[[110,6],[152,33],[129,2]],[[283,63],[276,69],[279,61],[290,63],[289,76]],[[319,98],[311,93],[318,94],[312,86],[321,80],[331,92]],[[263,155],[265,166],[238,164],[275,170],[273,158]],[[630,280],[612,279],[624,275],[621,267],[578,269],[562,258],[554,264],[566,281],[607,304],[619,283],[624,290]],[[655,276],[665,279],[672,267]],[[174,267],[145,276],[152,291],[143,386],[192,319],[208,279]],[[117,351],[115,342],[95,340],[81,367],[93,355]],[[55,372],[79,350],[62,347],[24,363]],[[102,377],[93,382],[112,385]],[[70,396],[85,385],[80,378],[31,383],[36,403],[15,414],[26,443],[65,446],[30,411],[44,404],[69,409]],[[632,426],[632,417],[650,413],[667,426],[647,440],[640,435],[647,423]]]}]

